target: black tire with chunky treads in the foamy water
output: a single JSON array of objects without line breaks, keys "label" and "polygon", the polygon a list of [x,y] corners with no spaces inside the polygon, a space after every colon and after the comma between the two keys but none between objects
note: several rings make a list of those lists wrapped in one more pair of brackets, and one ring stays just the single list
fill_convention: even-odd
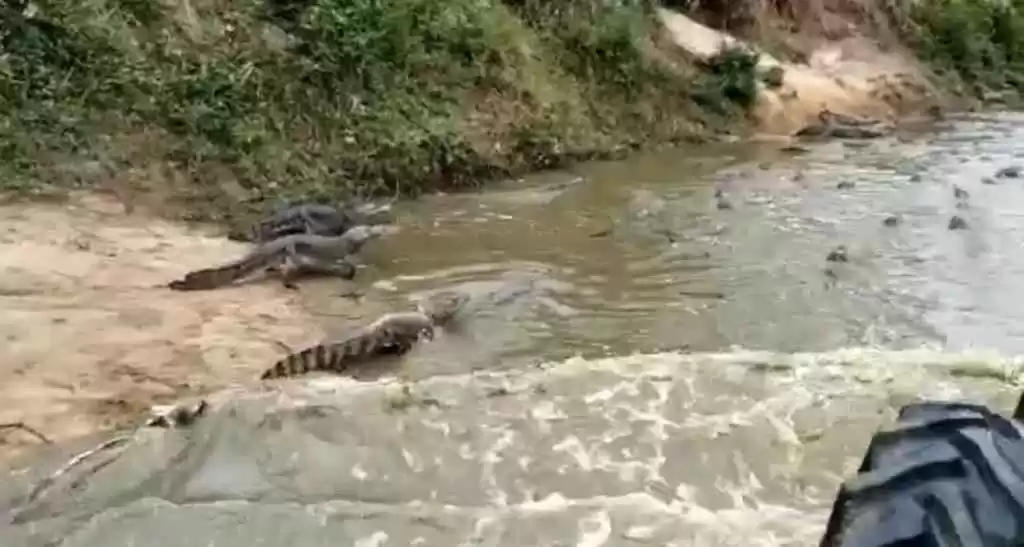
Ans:
[{"label": "black tire with chunky treads in the foamy water", "polygon": [[840,488],[820,547],[1024,545],[1022,433],[978,405],[903,407]]}]

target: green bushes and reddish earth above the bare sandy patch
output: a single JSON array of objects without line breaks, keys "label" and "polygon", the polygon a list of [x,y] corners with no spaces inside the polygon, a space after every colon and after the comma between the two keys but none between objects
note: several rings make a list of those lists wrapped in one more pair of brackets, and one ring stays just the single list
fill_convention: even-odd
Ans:
[{"label": "green bushes and reddish earth above the bare sandy patch", "polygon": [[[904,45],[937,69],[940,84],[985,97],[1024,90],[1024,0],[663,0],[712,27],[800,59],[773,32],[831,38],[867,34]],[[766,29],[768,32],[765,32]],[[806,57],[805,57],[806,59]],[[772,87],[779,74],[766,74]]]}]

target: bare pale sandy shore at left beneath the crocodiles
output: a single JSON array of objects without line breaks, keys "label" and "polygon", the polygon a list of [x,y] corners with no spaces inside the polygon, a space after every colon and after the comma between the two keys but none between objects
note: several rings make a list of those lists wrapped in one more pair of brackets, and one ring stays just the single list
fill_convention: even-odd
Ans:
[{"label": "bare pale sandy shore at left beneath the crocodiles", "polygon": [[[163,287],[246,246],[120,203],[0,206],[0,422],[53,440],[137,422],[177,396],[251,384],[285,349],[322,336],[273,283]],[[39,439],[0,429],[0,458]]]}]

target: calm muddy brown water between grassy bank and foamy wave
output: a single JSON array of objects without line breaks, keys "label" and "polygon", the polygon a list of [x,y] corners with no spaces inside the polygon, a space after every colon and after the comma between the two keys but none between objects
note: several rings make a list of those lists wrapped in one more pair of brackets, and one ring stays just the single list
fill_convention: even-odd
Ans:
[{"label": "calm muddy brown water between grassy bank and foamy wave", "polygon": [[[367,277],[480,293],[474,367],[735,346],[1018,352],[1024,180],[982,178],[1024,156],[1022,124],[961,120],[798,157],[672,152],[432,198],[402,211],[404,234],[372,251]],[[953,214],[970,229],[947,229]],[[849,263],[829,264],[841,244]]]}]

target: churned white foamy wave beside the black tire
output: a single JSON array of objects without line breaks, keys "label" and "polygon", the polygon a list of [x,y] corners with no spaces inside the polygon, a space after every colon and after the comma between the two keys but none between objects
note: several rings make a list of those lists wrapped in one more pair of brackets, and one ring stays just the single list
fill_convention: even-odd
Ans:
[{"label": "churned white foamy wave beside the black tire", "polygon": [[[194,430],[151,430],[55,487],[3,545],[816,545],[839,481],[899,407],[1009,412],[1022,365],[737,349],[222,392]],[[49,519],[69,511],[77,522]]]}]

